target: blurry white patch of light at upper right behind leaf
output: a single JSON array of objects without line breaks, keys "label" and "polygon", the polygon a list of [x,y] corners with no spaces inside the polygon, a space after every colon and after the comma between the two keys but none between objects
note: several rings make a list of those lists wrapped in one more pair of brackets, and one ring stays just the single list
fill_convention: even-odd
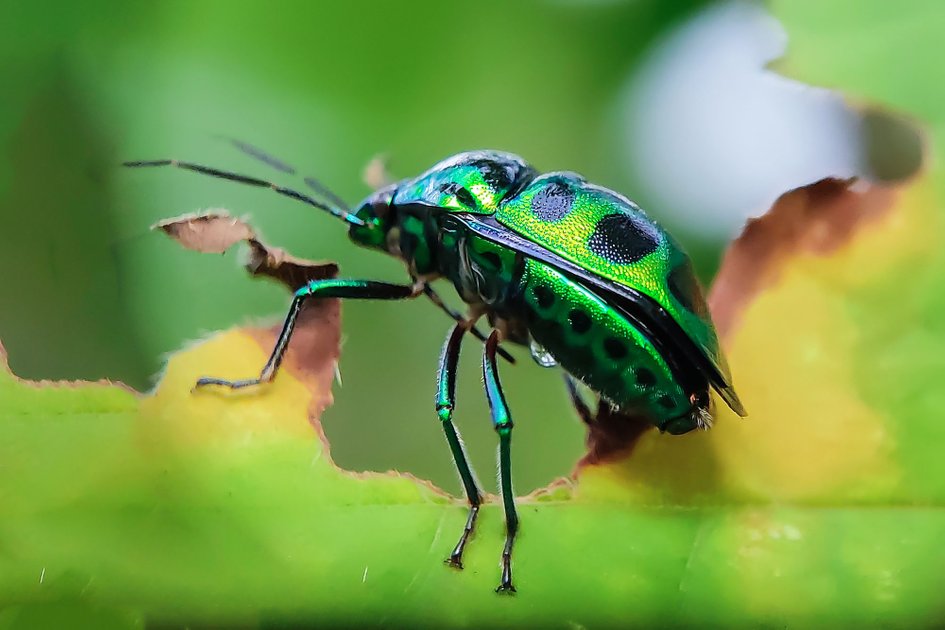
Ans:
[{"label": "blurry white patch of light at upper right behind leaf", "polygon": [[716,5],[657,44],[628,86],[626,146],[642,197],[674,226],[738,233],[783,192],[859,163],[859,115],[765,65],[786,35],[761,7]]}]

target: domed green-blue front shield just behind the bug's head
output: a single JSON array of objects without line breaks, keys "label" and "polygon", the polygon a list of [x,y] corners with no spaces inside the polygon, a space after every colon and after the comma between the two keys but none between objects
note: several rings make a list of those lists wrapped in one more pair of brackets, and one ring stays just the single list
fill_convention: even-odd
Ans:
[{"label": "domed green-blue front shield just behind the bug's head", "polygon": [[443,160],[397,187],[393,205],[423,204],[452,212],[493,214],[502,200],[535,177],[517,155],[469,151]]}]

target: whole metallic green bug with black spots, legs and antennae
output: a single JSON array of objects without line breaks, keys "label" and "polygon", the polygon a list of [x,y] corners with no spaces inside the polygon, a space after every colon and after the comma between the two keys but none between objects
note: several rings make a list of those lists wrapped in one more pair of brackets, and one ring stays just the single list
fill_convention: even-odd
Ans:
[{"label": "whole metallic green bug with black spots, legs and antennae", "polygon": [[[279,170],[275,158],[235,143]],[[482,374],[499,439],[499,484],[506,538],[500,593],[514,593],[512,548],[519,520],[511,478],[512,415],[499,381],[500,341],[528,346],[541,365],[563,368],[585,421],[576,382],[600,404],[681,434],[711,425],[709,390],[740,416],[705,297],[679,243],[623,195],[571,172],[539,173],[501,151],[469,151],[423,174],[380,188],[351,210],[316,180],[319,198],[266,180],[191,162],[151,160],[126,166],[173,166],[266,187],[348,224],[354,243],[401,259],[409,284],[373,280],[312,281],[296,291],[278,340],[258,377],[203,377],[198,387],[242,388],[275,376],[302,304],[312,298],[407,300],[426,295],[455,320],[439,360],[436,413],[469,504],[466,524],[446,562],[462,568],[482,491],[452,421],[456,366],[467,333],[484,341]],[[433,291],[444,278],[469,307],[463,316]],[[476,328],[485,317],[488,336]]]}]

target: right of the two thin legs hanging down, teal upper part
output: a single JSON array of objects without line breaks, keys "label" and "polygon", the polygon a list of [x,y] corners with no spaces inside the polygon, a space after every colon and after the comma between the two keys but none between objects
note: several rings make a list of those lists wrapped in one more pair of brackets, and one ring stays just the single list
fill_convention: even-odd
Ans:
[{"label": "right of the two thin legs hanging down, teal upper part", "polygon": [[512,546],[518,532],[518,514],[515,511],[515,494],[512,492],[512,416],[502,393],[499,374],[496,370],[496,348],[499,331],[493,330],[486,340],[482,355],[482,379],[486,388],[486,399],[492,412],[492,424],[499,434],[499,486],[502,490],[502,505],[505,507],[505,547],[502,550],[502,581],[496,593],[514,593],[512,586]]}]

